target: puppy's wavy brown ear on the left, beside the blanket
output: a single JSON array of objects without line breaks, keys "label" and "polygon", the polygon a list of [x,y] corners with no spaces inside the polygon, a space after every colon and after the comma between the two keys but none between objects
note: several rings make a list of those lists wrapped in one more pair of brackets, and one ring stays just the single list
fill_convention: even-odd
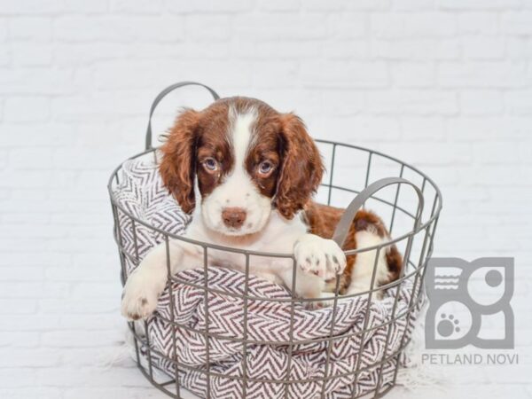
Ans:
[{"label": "puppy's wavy brown ear on the left, beside the blanket", "polygon": [[194,197],[195,145],[200,113],[186,109],[168,131],[168,140],[162,145],[159,171],[162,183],[176,198],[187,214],[196,204]]}]

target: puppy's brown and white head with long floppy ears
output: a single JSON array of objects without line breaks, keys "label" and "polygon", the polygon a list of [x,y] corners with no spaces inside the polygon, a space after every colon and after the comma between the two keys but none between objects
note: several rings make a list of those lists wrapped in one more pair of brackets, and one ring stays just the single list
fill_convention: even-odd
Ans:
[{"label": "puppy's brown and white head with long floppy ears", "polygon": [[323,175],[301,119],[253,98],[185,110],[168,133],[161,148],[163,183],[184,212],[200,206],[207,227],[225,235],[261,231],[272,209],[292,219]]}]

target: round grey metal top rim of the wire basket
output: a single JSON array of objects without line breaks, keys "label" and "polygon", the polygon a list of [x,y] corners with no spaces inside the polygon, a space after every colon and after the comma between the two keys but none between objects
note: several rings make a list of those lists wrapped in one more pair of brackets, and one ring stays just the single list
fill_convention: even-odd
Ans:
[{"label": "round grey metal top rim of the wire basket", "polygon": [[[418,173],[419,176],[422,176],[424,181],[428,182],[433,187],[433,189],[435,191],[434,205],[433,205],[433,210],[431,211],[432,215],[426,220],[425,223],[419,223],[419,226],[418,226],[417,229],[413,228],[411,231],[407,231],[407,232],[403,233],[402,235],[396,237],[395,239],[390,239],[386,243],[378,244],[378,245],[375,245],[375,246],[366,246],[364,248],[356,248],[356,249],[346,250],[346,251],[344,251],[344,254],[346,254],[346,256],[354,255],[354,254],[360,254],[360,253],[364,253],[364,252],[372,251],[372,250],[380,250],[383,247],[387,247],[387,246],[393,245],[393,244],[395,244],[397,242],[403,241],[403,239],[408,239],[409,237],[415,236],[416,234],[418,234],[419,231],[426,230],[439,217],[440,212],[442,210],[442,205],[443,205],[442,204],[442,192],[440,191],[440,188],[434,183],[434,180],[432,178],[430,178],[429,176],[426,176],[426,174],[421,172],[419,170],[419,168],[413,167],[410,164],[404,162],[403,160],[399,160],[399,159],[397,159],[397,158],[395,158],[393,156],[387,155],[385,153],[381,153],[379,151],[371,150],[369,148],[365,148],[365,147],[360,146],[360,145],[351,145],[351,144],[348,144],[348,143],[335,142],[335,141],[332,141],[332,140],[325,140],[325,139],[319,139],[319,138],[315,138],[314,140],[317,143],[333,145],[333,146],[341,146],[341,147],[346,147],[346,148],[352,148],[352,149],[355,149],[355,150],[364,151],[366,153],[369,153],[370,155],[372,155],[372,154],[378,155],[378,156],[383,157],[383,158],[385,158],[387,160],[393,160],[396,163],[400,164],[402,166],[402,168],[410,168],[413,172]],[[109,197],[110,197],[111,204],[112,204],[113,207],[117,207],[118,209],[120,209],[122,214],[128,216],[130,219],[134,220],[136,223],[140,223],[140,224],[144,225],[146,228],[149,228],[152,231],[157,231],[157,232],[163,234],[164,236],[167,236],[168,238],[177,239],[177,240],[181,240],[181,241],[193,244],[193,245],[201,246],[204,250],[209,248],[209,249],[222,250],[222,251],[231,252],[231,253],[245,254],[246,256],[253,255],[253,256],[262,256],[262,257],[291,258],[291,259],[293,259],[293,261],[295,261],[295,259],[293,257],[293,254],[290,254],[290,253],[274,253],[274,252],[265,252],[265,251],[254,251],[254,250],[249,250],[249,249],[240,249],[240,248],[236,248],[234,246],[223,246],[223,245],[219,245],[219,244],[207,243],[205,241],[200,241],[200,240],[197,240],[197,239],[189,239],[187,237],[184,237],[181,234],[175,234],[175,233],[171,233],[169,231],[162,230],[162,229],[160,229],[158,227],[153,226],[150,223],[147,223],[146,221],[144,221],[142,219],[139,219],[135,215],[131,215],[131,213],[127,209],[122,207],[121,204],[116,200],[116,198],[114,196],[114,192],[113,192],[113,180],[115,180],[117,178],[116,176],[118,176],[117,175],[118,171],[123,167],[125,162],[127,162],[128,160],[137,159],[137,158],[139,158],[139,157],[141,157],[141,156],[143,156],[143,155],[145,155],[147,153],[154,153],[157,150],[159,150],[159,148],[160,148],[160,146],[153,147],[153,148],[145,150],[145,151],[143,151],[141,153],[137,153],[137,154],[127,158],[126,160],[122,160],[121,163],[116,168],[113,169],[113,172],[111,173],[111,176],[109,177],[109,180],[107,182],[107,191],[109,192]],[[325,185],[329,186],[329,184],[325,184]],[[332,185],[332,184],[330,186],[334,187],[334,185]],[[355,192],[355,191],[351,190],[351,192]],[[381,202],[387,203],[387,201],[385,201],[385,200],[374,198],[373,196],[372,196],[372,198],[374,200],[379,200]],[[387,204],[388,205],[393,205],[393,204],[389,204],[389,203],[387,203]],[[410,213],[408,213],[407,211],[404,211],[403,209],[401,209],[401,210],[403,211],[403,213],[405,213],[407,215],[410,215],[412,218],[415,219],[414,215],[411,215]],[[434,232],[431,234],[430,231],[427,231],[427,234],[432,236],[434,234]],[[432,239],[434,239],[434,238],[432,238]]]}]

